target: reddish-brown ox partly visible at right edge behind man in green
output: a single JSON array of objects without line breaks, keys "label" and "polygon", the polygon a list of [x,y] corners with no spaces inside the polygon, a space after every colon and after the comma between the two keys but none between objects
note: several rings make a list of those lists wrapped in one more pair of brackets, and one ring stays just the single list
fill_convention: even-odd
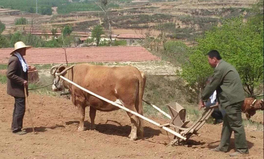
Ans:
[{"label": "reddish-brown ox partly visible at right edge behind man in green", "polygon": [[242,106],[242,112],[246,113],[246,117],[249,120],[257,110],[263,110],[263,100],[255,100],[254,98],[245,98]]}]

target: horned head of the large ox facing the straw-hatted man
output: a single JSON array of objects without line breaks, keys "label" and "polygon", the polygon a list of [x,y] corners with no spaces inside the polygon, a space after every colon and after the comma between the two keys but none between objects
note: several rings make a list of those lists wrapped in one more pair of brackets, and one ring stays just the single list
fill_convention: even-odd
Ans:
[{"label": "horned head of the large ox facing the straw-hatted man", "polygon": [[55,73],[61,73],[63,70],[65,70],[66,66],[63,64],[52,66],[50,69],[51,75],[53,75],[53,84],[51,86],[52,91],[62,91],[63,90],[63,84],[62,79],[59,76],[56,76]]}]

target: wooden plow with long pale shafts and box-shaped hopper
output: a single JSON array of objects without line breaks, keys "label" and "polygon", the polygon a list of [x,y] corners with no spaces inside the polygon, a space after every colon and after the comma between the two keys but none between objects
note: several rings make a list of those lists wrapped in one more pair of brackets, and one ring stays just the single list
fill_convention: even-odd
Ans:
[{"label": "wooden plow with long pale shafts and box-shaped hopper", "polygon": [[[152,105],[151,103],[149,103],[148,101],[145,101],[143,99],[144,102],[146,102],[147,104],[151,105],[152,107],[154,107],[155,109],[157,109],[159,112],[161,112],[163,115],[167,116],[169,119],[171,119],[172,121],[170,123],[167,124],[159,124],[153,120],[150,120],[147,117],[144,117],[142,115],[140,115],[137,112],[131,111],[128,108],[121,106],[113,101],[110,101],[104,97],[101,97],[79,85],[77,85],[76,83],[70,81],[69,79],[61,76],[59,73],[55,73],[56,76],[59,76],[60,78],[64,79],[65,81],[73,84],[74,86],[80,88],[81,90],[103,100],[106,101],[114,106],[117,106],[127,112],[130,112],[140,118],[142,118],[143,120],[146,120],[164,130],[166,130],[169,133],[172,133],[174,135],[174,140],[171,141],[169,144],[167,144],[167,146],[171,146],[171,145],[175,145],[176,143],[180,143],[181,141],[187,141],[188,138],[190,138],[193,134],[200,136],[200,134],[197,133],[197,130],[199,130],[202,125],[204,125],[205,121],[209,118],[209,116],[211,115],[211,113],[214,111],[214,107],[210,107],[210,108],[206,108],[205,112],[202,114],[202,116],[191,126],[191,127],[186,127],[188,121],[185,121],[185,117],[186,117],[186,110],[185,108],[181,107],[178,103],[170,103],[167,105],[168,110],[170,115],[168,115],[166,112],[162,111],[161,109],[159,109],[157,106]],[[174,130],[170,129],[169,127],[173,127]]]}]

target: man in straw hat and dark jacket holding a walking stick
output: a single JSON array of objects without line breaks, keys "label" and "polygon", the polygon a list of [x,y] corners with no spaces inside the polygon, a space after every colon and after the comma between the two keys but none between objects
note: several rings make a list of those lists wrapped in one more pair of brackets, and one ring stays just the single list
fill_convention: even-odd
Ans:
[{"label": "man in straw hat and dark jacket holding a walking stick", "polygon": [[22,41],[15,43],[15,49],[10,53],[11,57],[7,67],[7,94],[15,98],[11,130],[18,135],[26,134],[25,131],[21,130],[26,110],[24,86],[26,86],[28,96],[28,66],[23,56],[26,55],[26,50],[31,47],[26,46]]}]

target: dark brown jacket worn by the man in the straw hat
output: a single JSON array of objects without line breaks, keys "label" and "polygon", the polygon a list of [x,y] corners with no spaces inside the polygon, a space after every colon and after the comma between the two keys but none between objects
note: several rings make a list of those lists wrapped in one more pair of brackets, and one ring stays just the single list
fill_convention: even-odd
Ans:
[{"label": "dark brown jacket worn by the man in the straw hat", "polygon": [[[25,97],[24,81],[27,81],[27,71],[23,71],[23,67],[15,55],[12,55],[8,61],[7,67],[7,94],[13,97]],[[27,95],[28,90],[26,87]]]}]

